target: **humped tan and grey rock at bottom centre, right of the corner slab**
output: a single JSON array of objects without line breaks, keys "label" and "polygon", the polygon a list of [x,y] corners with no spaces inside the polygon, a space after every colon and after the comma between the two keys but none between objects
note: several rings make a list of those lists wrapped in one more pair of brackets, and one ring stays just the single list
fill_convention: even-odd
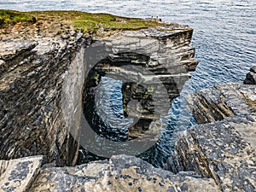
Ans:
[{"label": "humped tan and grey rock at bottom centre, right of the corner slab", "polygon": [[32,184],[36,191],[220,191],[212,178],[174,175],[136,157],[118,155],[74,167],[43,169]]}]

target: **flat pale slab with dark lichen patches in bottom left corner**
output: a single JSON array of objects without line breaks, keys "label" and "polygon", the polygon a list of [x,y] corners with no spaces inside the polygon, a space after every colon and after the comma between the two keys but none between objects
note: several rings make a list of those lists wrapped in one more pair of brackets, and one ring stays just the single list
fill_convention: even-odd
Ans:
[{"label": "flat pale slab with dark lichen patches in bottom left corner", "polygon": [[38,175],[43,156],[0,160],[0,191],[26,192]]}]

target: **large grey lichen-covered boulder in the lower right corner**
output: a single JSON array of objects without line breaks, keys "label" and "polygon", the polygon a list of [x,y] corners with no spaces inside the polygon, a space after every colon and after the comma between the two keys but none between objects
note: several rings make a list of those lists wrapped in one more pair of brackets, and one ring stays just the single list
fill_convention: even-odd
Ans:
[{"label": "large grey lichen-covered boulder in the lower right corner", "polygon": [[168,159],[172,172],[195,171],[212,177],[223,191],[256,189],[256,117],[237,116],[195,125],[177,140]]}]

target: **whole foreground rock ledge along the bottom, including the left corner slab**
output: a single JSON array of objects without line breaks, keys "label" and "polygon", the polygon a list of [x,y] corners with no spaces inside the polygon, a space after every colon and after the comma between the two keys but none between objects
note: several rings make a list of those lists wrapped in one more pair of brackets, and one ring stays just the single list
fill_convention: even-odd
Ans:
[{"label": "whole foreground rock ledge along the bottom, including the left corner slab", "polygon": [[[220,191],[212,178],[177,175],[136,157],[118,155],[86,165],[41,166],[42,157],[0,161],[0,190],[36,191]],[[6,168],[7,167],[7,168]]]}]

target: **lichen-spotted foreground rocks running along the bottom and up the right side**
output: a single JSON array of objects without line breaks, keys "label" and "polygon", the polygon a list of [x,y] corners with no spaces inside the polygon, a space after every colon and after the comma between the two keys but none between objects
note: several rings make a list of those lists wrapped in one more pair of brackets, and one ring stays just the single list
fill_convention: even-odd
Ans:
[{"label": "lichen-spotted foreground rocks running along the bottom and up the right side", "polygon": [[253,192],[256,186],[255,88],[255,84],[230,83],[218,84],[212,90],[199,90],[195,93],[196,112],[203,112],[203,108],[198,107],[206,106],[206,103],[209,105],[206,108],[216,110],[223,109],[225,103],[229,106],[225,110],[233,113],[230,117],[219,119],[219,116],[210,113],[210,109],[204,114],[212,119],[211,123],[205,119],[206,124],[195,125],[179,133],[175,151],[166,164],[166,171],[127,155],[64,167],[42,164],[43,156],[31,156],[0,161],[1,189]]}]

